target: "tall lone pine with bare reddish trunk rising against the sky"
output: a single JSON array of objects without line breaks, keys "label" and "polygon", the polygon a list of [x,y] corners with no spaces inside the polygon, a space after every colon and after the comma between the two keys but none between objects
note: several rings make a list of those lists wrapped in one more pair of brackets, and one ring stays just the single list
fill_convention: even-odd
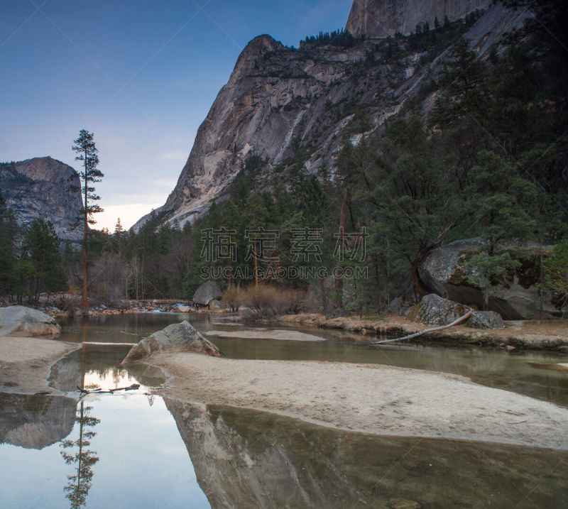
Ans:
[{"label": "tall lone pine with bare reddish trunk rising against the sky", "polygon": [[99,196],[94,194],[94,187],[91,184],[95,182],[100,182],[104,174],[97,169],[99,165],[99,156],[97,153],[99,150],[94,146],[94,135],[89,133],[85,129],[79,131],[79,138],[77,138],[73,143],[72,149],[78,155],[75,160],[82,161],[83,170],[79,172],[79,176],[82,180],[81,192],[84,199],[83,208],[80,212],[83,224],[84,224],[84,234],[83,234],[83,295],[81,300],[81,307],[83,312],[87,312],[89,307],[89,297],[87,289],[87,236],[89,233],[89,224],[95,224],[96,221],[92,218],[92,214],[97,214],[103,212],[103,209],[99,205],[89,205],[90,202],[97,201],[101,199]]}]

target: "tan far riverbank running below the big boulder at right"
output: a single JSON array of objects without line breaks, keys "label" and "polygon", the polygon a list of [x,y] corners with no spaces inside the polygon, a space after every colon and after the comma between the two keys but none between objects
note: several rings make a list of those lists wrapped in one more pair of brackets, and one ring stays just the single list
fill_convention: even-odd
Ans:
[{"label": "tan far riverbank running below the big boulder at right", "polygon": [[[411,322],[405,317],[359,318],[338,317],[326,319],[323,314],[287,314],[272,320],[289,327],[309,326],[339,329],[361,334],[361,343],[377,341],[377,337],[396,337],[414,334],[431,325]],[[504,329],[473,329],[457,325],[449,329],[420,336],[418,341],[452,341],[521,349],[559,349],[568,351],[567,320],[518,320],[505,322]]]}]

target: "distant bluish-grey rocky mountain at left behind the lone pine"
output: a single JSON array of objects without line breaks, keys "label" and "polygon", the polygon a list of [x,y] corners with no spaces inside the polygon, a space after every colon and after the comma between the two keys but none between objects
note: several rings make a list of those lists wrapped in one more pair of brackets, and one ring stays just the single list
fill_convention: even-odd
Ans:
[{"label": "distant bluish-grey rocky mountain at left behind the lone pine", "polygon": [[0,163],[0,189],[18,224],[43,217],[51,221],[62,240],[79,241],[83,228],[77,222],[82,209],[79,174],[56,159],[33,158]]}]

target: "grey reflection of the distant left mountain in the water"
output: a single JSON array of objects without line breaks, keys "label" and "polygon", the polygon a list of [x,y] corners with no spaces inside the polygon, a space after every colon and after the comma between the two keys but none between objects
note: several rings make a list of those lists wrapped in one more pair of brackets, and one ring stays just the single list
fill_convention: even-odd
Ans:
[{"label": "grey reflection of the distant left mountain in the water", "polygon": [[67,396],[0,393],[0,443],[43,449],[67,437],[77,401]]}]

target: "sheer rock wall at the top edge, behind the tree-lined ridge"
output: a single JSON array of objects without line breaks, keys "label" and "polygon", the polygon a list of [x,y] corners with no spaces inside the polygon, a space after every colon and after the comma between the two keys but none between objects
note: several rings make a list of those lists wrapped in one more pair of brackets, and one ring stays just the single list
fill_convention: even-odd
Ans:
[{"label": "sheer rock wall at the top edge, behind the tree-lined ridge", "polygon": [[439,23],[445,16],[454,21],[490,5],[491,0],[355,0],[346,29],[356,37],[408,35],[418,24],[429,23],[434,28],[435,18]]}]

